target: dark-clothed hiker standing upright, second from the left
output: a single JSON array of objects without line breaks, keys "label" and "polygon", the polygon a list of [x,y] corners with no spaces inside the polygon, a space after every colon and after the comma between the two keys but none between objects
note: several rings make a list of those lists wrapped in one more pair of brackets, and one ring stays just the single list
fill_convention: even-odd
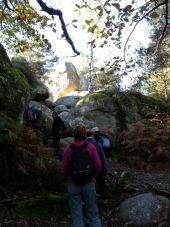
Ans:
[{"label": "dark-clothed hiker standing upright, second from the left", "polygon": [[58,113],[54,111],[52,113],[53,125],[51,130],[51,136],[53,139],[53,147],[55,148],[55,156],[60,156],[60,139],[62,137],[63,130],[65,128],[64,121],[59,117]]}]

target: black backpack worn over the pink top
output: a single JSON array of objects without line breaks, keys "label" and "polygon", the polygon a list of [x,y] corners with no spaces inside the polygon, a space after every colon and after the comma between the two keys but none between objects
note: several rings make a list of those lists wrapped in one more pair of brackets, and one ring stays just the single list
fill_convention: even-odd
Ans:
[{"label": "black backpack worn over the pink top", "polygon": [[93,161],[87,150],[88,143],[81,146],[70,145],[72,150],[69,163],[69,173],[71,180],[77,185],[83,185],[93,178]]}]

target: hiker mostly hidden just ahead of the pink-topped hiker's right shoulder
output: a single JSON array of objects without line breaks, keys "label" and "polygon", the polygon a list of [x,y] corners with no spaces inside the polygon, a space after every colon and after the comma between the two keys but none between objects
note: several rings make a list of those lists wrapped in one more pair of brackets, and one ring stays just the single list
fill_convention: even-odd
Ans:
[{"label": "hiker mostly hidden just ahead of the pink-topped hiker's right shoulder", "polygon": [[92,143],[99,155],[100,161],[102,163],[102,169],[99,172],[97,178],[96,178],[96,183],[97,183],[97,192],[101,195],[102,199],[105,198],[105,177],[107,175],[107,160],[106,156],[104,153],[104,150],[102,148],[102,145],[94,139],[94,133],[91,130],[88,130],[86,132],[86,141],[88,143]]}]

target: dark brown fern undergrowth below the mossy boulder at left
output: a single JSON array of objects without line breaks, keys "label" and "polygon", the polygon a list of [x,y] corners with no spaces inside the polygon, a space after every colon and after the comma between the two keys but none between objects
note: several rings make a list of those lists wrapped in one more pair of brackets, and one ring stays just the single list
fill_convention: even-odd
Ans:
[{"label": "dark brown fern undergrowth below the mossy boulder at left", "polygon": [[[1,153],[1,185],[18,191],[64,192],[65,182],[59,173],[59,162],[53,149],[44,148],[34,130],[24,128],[19,139]],[[2,195],[3,196],[3,195]]]}]

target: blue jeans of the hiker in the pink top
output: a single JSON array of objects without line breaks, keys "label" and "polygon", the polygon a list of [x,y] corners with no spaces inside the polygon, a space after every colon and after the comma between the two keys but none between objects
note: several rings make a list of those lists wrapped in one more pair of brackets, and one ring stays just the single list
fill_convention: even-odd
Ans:
[{"label": "blue jeans of the hiker in the pink top", "polygon": [[73,227],[84,227],[83,203],[86,206],[86,212],[90,222],[89,227],[101,227],[94,182],[90,181],[87,184],[78,186],[69,181],[68,199]]}]

